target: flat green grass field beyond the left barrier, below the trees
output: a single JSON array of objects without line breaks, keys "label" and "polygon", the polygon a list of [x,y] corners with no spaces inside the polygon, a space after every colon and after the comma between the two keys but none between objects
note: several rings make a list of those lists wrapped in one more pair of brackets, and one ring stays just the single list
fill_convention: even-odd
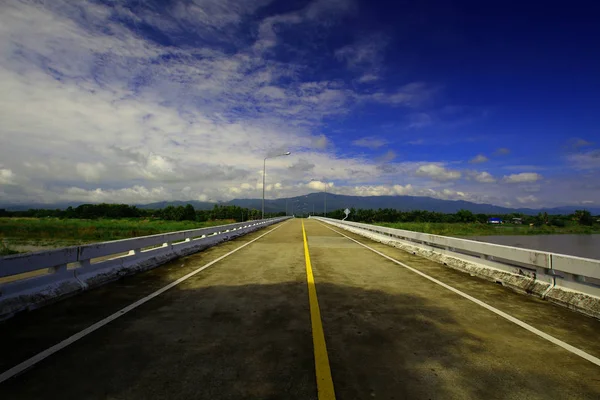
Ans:
[{"label": "flat green grass field beyond the left barrier, below the trees", "polygon": [[145,219],[0,218],[0,256],[233,223]]}]

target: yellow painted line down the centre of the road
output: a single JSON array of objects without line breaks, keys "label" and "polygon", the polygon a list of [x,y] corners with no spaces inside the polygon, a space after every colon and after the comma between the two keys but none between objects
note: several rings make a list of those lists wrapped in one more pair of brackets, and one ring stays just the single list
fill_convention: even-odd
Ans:
[{"label": "yellow painted line down the centre of the road", "polygon": [[333,379],[331,379],[329,356],[327,355],[325,334],[323,333],[323,323],[321,321],[321,311],[319,310],[319,300],[317,299],[315,278],[312,274],[312,264],[310,263],[310,253],[308,252],[308,242],[306,240],[304,221],[302,222],[302,238],[304,240],[304,259],[306,260],[306,281],[308,283],[308,300],[310,303],[310,323],[313,331],[315,370],[317,373],[317,393],[319,400],[335,400]]}]

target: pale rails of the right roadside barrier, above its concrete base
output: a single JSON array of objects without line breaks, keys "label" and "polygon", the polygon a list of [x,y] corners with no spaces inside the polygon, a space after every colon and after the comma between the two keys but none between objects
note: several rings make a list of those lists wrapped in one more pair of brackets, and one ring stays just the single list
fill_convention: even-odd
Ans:
[{"label": "pale rails of the right roadside barrier, above its concrete base", "polygon": [[312,217],[344,229],[383,235],[446,256],[525,275],[540,282],[600,297],[600,260],[432,235],[332,218]]}]

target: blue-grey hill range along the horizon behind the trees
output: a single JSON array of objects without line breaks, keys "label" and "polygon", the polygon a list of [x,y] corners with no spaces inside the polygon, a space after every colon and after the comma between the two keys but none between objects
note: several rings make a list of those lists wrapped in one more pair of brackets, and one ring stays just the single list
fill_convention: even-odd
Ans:
[{"label": "blue-grey hill range along the horizon behind the trees", "polygon": [[[287,210],[290,214],[298,209],[305,208],[306,212],[312,212],[313,207],[316,213],[323,212],[323,196],[324,193],[310,193],[303,196],[290,197],[287,199],[265,200],[266,212],[279,212]],[[221,205],[236,205],[245,208],[254,208],[260,210],[262,205],[261,199],[234,199],[227,202],[221,202]],[[30,208],[48,208],[48,209],[64,209],[69,206],[76,207],[83,203],[60,203],[60,204],[6,204],[0,205],[0,208],[7,210],[27,210]],[[161,201],[150,204],[139,204],[139,208],[144,209],[159,209],[167,206],[179,206],[191,204],[198,210],[208,210],[215,206],[216,203],[202,201]],[[587,209],[594,215],[600,214],[600,208],[583,207],[583,206],[564,206],[555,208],[531,209],[531,208],[507,208],[495,206],[493,204],[479,204],[463,200],[441,200],[432,197],[419,196],[345,196],[339,194],[327,194],[327,210],[333,211],[340,208],[393,208],[401,211],[412,210],[427,210],[442,213],[455,213],[458,210],[465,209],[475,214],[537,214],[539,212],[547,212],[548,214],[571,214],[575,210]]]}]

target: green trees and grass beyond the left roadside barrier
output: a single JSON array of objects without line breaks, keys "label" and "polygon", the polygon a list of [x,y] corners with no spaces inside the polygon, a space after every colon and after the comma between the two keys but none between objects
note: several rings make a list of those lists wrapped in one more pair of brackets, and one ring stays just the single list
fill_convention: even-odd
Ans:
[{"label": "green trees and grass beyond the left roadside barrier", "polygon": [[241,207],[216,205],[212,210],[195,210],[190,204],[161,210],[126,204],[84,204],[66,210],[0,210],[0,256],[225,225],[259,216],[259,211]]}]

